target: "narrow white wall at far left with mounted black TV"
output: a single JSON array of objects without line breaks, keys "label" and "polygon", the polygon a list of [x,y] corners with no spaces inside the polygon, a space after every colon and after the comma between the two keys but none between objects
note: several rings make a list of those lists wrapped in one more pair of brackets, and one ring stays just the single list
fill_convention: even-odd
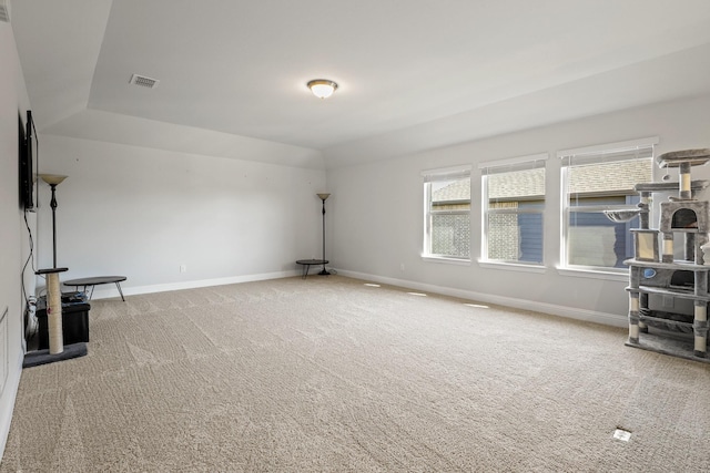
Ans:
[{"label": "narrow white wall at far left with mounted black TV", "polygon": [[[12,29],[0,22],[0,317],[8,310],[0,329],[0,452],[10,430],[24,356],[20,273],[29,255],[29,238],[18,197],[18,114],[24,117],[28,107]],[[36,226],[34,214],[28,214],[28,223]],[[33,294],[31,271],[26,273],[24,282]]]}]

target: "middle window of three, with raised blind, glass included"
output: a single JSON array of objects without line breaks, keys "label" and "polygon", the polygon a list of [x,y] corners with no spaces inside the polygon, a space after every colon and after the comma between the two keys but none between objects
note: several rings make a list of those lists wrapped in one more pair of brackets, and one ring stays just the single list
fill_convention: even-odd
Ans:
[{"label": "middle window of three, with raised blind, glass included", "polygon": [[481,260],[542,264],[547,154],[481,163]]}]

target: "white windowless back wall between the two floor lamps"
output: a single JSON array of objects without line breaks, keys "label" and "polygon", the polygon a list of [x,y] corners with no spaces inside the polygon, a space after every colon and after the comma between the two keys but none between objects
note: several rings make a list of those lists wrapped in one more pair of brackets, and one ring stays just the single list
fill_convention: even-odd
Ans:
[{"label": "white windowless back wall between the two floor lamps", "polygon": [[[41,172],[69,176],[57,187],[62,280],[124,275],[124,292],[138,294],[291,276],[320,254],[323,169],[52,135],[40,146]],[[51,267],[43,183],[40,202],[39,265]]]}]

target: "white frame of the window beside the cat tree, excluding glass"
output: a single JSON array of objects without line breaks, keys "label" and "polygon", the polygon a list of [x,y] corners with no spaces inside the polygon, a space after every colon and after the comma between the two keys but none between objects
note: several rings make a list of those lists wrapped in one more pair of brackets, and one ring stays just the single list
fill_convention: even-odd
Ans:
[{"label": "white frame of the window beside the cat tree, excluding glass", "polygon": [[[617,143],[598,144],[579,148],[560,150],[557,157],[561,160],[560,166],[560,245],[559,245],[559,266],[558,271],[568,276],[592,276],[611,279],[623,280],[628,278],[627,268],[609,267],[609,266],[590,266],[575,265],[569,263],[570,248],[570,214],[581,209],[587,213],[601,213],[605,209],[628,208],[629,204],[602,204],[602,205],[570,205],[570,193],[568,192],[570,184],[569,169],[574,166],[588,164],[604,164],[610,162],[629,162],[636,160],[649,160],[651,162],[649,179],[653,178],[653,158],[655,146],[659,143],[658,136],[645,137],[639,140],[629,140]],[[637,157],[630,156],[635,153]],[[643,154],[649,154],[643,156]],[[625,157],[629,156],[629,157]],[[572,162],[577,160],[576,164]],[[649,182],[650,182],[649,181]],[[638,183],[637,183],[638,184]],[[608,195],[609,197],[621,196],[622,194]],[[633,194],[623,194],[630,196]],[[630,233],[629,233],[630,237]]]}]

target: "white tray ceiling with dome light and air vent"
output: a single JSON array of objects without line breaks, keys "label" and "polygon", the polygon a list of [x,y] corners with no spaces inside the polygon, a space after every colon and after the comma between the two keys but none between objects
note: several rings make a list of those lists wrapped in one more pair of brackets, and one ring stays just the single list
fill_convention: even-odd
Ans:
[{"label": "white tray ceiling with dome light and air vent", "polygon": [[708,0],[12,0],[11,22],[40,133],[298,166],[710,92]]}]

